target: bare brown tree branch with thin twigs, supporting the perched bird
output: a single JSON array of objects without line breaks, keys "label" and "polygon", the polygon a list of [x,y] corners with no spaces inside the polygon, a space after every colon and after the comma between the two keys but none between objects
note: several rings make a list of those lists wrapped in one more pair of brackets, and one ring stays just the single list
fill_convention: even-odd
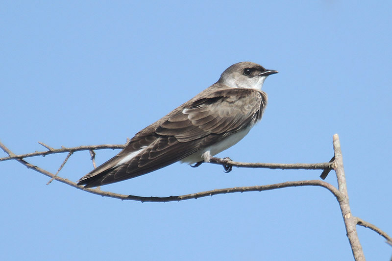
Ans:
[{"label": "bare brown tree branch with thin twigs, supporting the perched bird", "polygon": [[[31,168],[39,173],[42,173],[51,178],[51,180],[57,180],[59,182],[65,183],[69,186],[72,186],[79,190],[84,190],[89,193],[107,196],[112,198],[117,198],[121,200],[135,200],[140,202],[169,202],[169,201],[182,201],[188,199],[197,199],[200,197],[206,196],[213,196],[218,194],[225,194],[225,193],[235,193],[235,192],[247,192],[247,191],[264,191],[264,190],[274,190],[274,189],[282,189],[288,187],[303,187],[303,186],[319,186],[329,190],[338,200],[342,215],[343,221],[345,224],[347,237],[351,245],[351,249],[354,255],[354,259],[356,261],[365,260],[362,246],[359,242],[359,238],[356,232],[356,225],[361,225],[371,230],[377,232],[382,237],[386,238],[387,241],[392,244],[392,238],[387,235],[384,231],[377,228],[376,226],[358,218],[351,214],[349,202],[348,202],[348,193],[344,175],[344,168],[343,168],[343,157],[342,157],[342,150],[340,147],[339,136],[337,134],[333,137],[333,146],[334,146],[334,157],[331,159],[330,162],[327,163],[315,163],[315,164],[278,164],[278,163],[243,163],[243,162],[235,162],[230,159],[220,159],[216,157],[211,158],[212,164],[219,164],[224,167],[248,167],[248,168],[271,168],[271,169],[323,169],[324,171],[321,174],[321,178],[324,179],[326,175],[329,173],[331,169],[334,169],[336,172],[337,180],[338,180],[338,189],[336,189],[331,184],[321,181],[321,180],[303,180],[303,181],[288,181],[283,183],[271,184],[271,185],[262,185],[262,186],[251,186],[251,187],[236,187],[236,188],[227,188],[227,189],[218,189],[218,190],[209,190],[203,192],[197,192],[192,194],[186,195],[179,195],[179,196],[168,196],[168,197],[144,197],[144,196],[136,196],[136,195],[123,195],[118,193],[113,193],[109,191],[102,191],[100,189],[84,189],[82,186],[77,186],[75,182],[70,181],[68,179],[62,178],[58,176],[58,172],[61,168],[65,165],[67,160],[71,157],[73,152],[75,151],[83,151],[88,150],[91,155],[91,159],[93,161],[93,165],[95,165],[94,158],[95,152],[94,150],[98,149],[119,149],[125,147],[125,144],[119,145],[110,145],[110,144],[103,144],[103,145],[90,145],[90,146],[78,146],[78,147],[61,147],[59,149],[55,149],[50,147],[49,145],[39,142],[41,145],[46,147],[47,151],[41,152],[33,152],[27,154],[16,155],[11,150],[9,150],[4,144],[0,142],[0,147],[2,150],[8,154],[8,157],[0,158],[1,161],[7,160],[16,160],[21,164]],[[46,156],[49,154],[55,153],[64,153],[68,152],[66,159],[64,160],[63,164],[60,166],[56,174],[53,174],[45,169],[42,169],[38,166],[32,165],[24,160],[27,157],[34,157],[34,156]],[[50,180],[50,181],[51,181]]]}]

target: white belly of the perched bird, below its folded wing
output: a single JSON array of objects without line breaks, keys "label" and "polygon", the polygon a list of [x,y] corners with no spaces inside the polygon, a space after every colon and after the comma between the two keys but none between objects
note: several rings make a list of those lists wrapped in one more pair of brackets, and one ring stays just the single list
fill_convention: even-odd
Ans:
[{"label": "white belly of the perched bird, below its folded wing", "polygon": [[221,142],[218,142],[218,143],[211,145],[205,149],[197,151],[196,153],[182,159],[181,162],[194,164],[196,162],[203,161],[204,160],[203,154],[206,152],[209,152],[209,154],[211,156],[214,156],[214,155],[220,153],[221,151],[233,146],[237,142],[241,141],[245,137],[245,135],[248,134],[250,128],[251,128],[251,126],[249,126],[248,128],[246,128],[243,131],[239,131],[237,133],[230,135],[229,137],[227,137],[226,139],[224,139]]}]

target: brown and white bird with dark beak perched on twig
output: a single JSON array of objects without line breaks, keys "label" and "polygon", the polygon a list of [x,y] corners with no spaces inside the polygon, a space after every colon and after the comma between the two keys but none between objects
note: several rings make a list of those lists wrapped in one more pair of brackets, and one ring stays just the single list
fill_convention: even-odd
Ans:
[{"label": "brown and white bird with dark beak perched on twig", "polygon": [[242,140],[261,120],[265,79],[278,73],[253,62],[231,65],[219,80],[139,131],[123,150],[77,182],[99,187],[134,178],[175,162],[195,164]]}]

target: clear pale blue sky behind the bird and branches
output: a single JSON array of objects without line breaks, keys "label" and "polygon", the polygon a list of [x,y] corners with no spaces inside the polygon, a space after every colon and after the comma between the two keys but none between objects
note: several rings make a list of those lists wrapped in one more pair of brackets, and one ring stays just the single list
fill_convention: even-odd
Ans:
[{"label": "clear pale blue sky behind the bird and branches", "polygon": [[[220,153],[319,163],[338,133],[352,214],[392,235],[391,1],[1,1],[0,140],[14,153],[121,144],[252,61],[262,121]],[[98,164],[119,151],[97,151]],[[28,159],[56,172],[65,154]],[[0,157],[6,154],[1,151]],[[92,169],[74,153],[60,176]],[[140,196],[319,179],[321,171],[173,164],[101,187]],[[335,197],[320,187],[182,202],[120,201],[0,162],[0,260],[352,260]],[[336,185],[333,172],[327,182]],[[368,261],[392,248],[357,227]]]}]

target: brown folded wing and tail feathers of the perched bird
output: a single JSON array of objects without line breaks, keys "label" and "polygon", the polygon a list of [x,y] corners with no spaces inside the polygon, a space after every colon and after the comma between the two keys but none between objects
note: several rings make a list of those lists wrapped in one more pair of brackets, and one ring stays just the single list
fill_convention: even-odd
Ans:
[{"label": "brown folded wing and tail feathers of the perched bird", "polygon": [[137,133],[118,155],[82,177],[78,185],[96,187],[146,174],[261,119],[267,102],[264,92],[209,89]]}]

